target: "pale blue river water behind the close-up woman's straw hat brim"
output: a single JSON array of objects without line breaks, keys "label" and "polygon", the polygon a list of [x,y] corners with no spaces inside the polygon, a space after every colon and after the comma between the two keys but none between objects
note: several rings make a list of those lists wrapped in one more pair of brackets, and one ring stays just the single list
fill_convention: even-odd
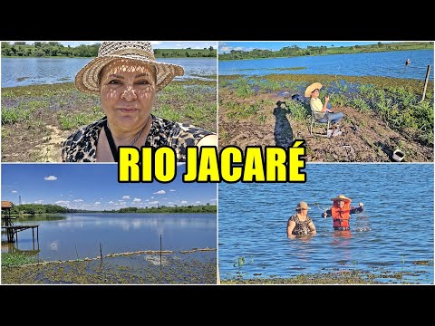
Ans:
[{"label": "pale blue river water behind the close-up woman's straw hat brim", "polygon": [[[92,58],[2,58],[2,87],[73,82],[75,74]],[[185,74],[176,80],[216,74],[216,58],[159,58],[181,65]]]}]

